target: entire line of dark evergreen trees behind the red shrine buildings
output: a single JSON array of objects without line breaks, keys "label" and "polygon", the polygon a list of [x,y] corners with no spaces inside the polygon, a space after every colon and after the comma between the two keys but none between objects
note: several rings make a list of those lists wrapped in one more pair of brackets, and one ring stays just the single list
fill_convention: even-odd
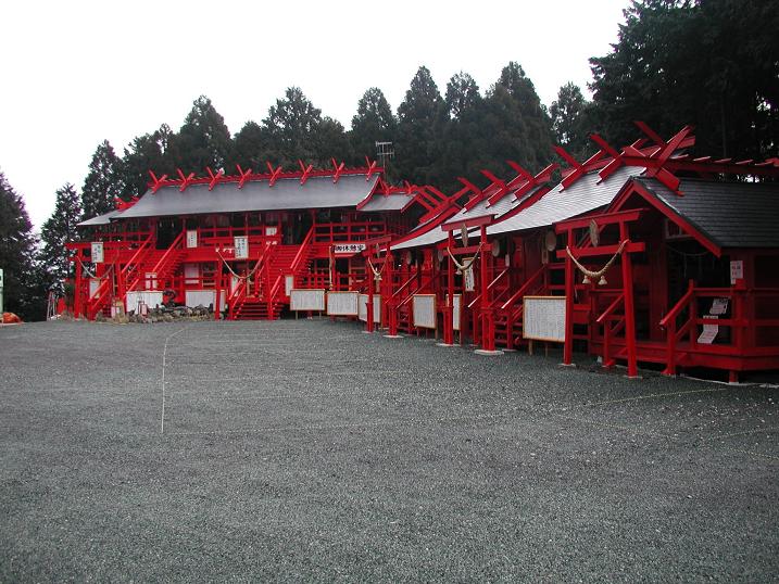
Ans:
[{"label": "entire line of dark evergreen trees behind the red shrine buildings", "polygon": [[236,165],[263,172],[266,162],[297,168],[299,160],[362,165],[366,156],[376,158],[376,142],[391,142],[390,181],[431,183],[447,192],[458,188],[460,176],[478,185],[480,169],[504,174],[506,160],[542,168],[554,157],[555,143],[583,160],[593,131],[627,143],[634,119],[662,135],[693,124],[698,150],[706,154],[777,155],[779,11],[770,2],[641,0],[625,18],[612,51],[590,60],[592,101],[566,84],[545,107],[516,62],[486,90],[464,72],[439,88],[422,66],[397,111],[381,89],[367,89],[350,129],[291,87],[260,122],[249,120],[231,135],[201,96],[178,131],[163,125],[133,139],[121,154],[108,141],[98,144],[80,193],[70,183],[58,190],[39,249],[22,198],[0,175],[7,307],[40,317],[43,290],[68,275],[63,244],[75,237],[75,224],[112,210],[116,199],[142,194],[150,169],[175,177],[177,169],[201,176],[206,167],[234,174]]}]

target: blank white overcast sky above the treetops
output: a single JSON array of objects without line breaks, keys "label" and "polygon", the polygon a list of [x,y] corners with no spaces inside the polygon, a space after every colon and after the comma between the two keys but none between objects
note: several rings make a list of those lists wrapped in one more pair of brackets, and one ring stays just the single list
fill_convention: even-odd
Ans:
[{"label": "blank white overcast sky above the treetops", "polygon": [[379,87],[393,110],[419,65],[439,90],[460,71],[482,92],[517,61],[546,105],[582,90],[588,58],[616,42],[628,0],[394,2],[52,1],[0,3],[0,170],[36,229],[54,191],[79,190],[97,145],[117,154],[211,98],[230,132],[296,85],[349,128]]}]

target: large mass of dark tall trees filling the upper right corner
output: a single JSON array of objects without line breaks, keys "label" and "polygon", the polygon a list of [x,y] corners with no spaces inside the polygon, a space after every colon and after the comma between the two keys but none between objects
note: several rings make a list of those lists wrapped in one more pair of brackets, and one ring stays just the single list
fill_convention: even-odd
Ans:
[{"label": "large mass of dark tall trees filling the upper right corner", "polygon": [[779,11],[761,0],[633,1],[618,42],[590,60],[596,124],[615,144],[634,119],[696,129],[701,154],[763,158],[779,148]]}]

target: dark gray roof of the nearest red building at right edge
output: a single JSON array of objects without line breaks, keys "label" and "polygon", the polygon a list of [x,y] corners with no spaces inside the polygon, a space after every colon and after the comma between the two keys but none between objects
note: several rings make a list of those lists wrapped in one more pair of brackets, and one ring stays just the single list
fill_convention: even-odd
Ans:
[{"label": "dark gray roof of the nearest red building at right edge", "polygon": [[656,179],[636,181],[719,247],[779,247],[779,182],[682,179],[679,196]]}]

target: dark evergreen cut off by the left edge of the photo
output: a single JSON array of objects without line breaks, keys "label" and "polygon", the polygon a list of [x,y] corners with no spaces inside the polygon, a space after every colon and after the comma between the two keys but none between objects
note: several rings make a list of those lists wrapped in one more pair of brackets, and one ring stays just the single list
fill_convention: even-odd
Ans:
[{"label": "dark evergreen cut off by the left edge of the photo", "polygon": [[46,314],[45,287],[35,263],[36,238],[22,196],[0,172],[0,268],[3,269],[3,309],[25,320]]}]

